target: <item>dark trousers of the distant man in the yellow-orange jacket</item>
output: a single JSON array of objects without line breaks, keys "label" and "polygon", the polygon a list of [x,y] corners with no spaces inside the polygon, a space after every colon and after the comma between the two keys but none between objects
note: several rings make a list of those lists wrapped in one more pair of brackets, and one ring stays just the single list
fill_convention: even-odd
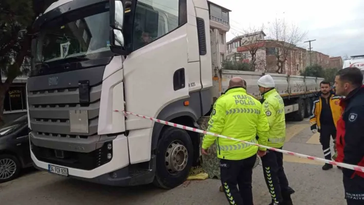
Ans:
[{"label": "dark trousers of the distant man in the yellow-orange jacket", "polygon": [[330,136],[333,138],[333,140],[336,139],[335,125],[321,125],[320,143],[322,145],[323,156],[327,160],[331,160]]}]

